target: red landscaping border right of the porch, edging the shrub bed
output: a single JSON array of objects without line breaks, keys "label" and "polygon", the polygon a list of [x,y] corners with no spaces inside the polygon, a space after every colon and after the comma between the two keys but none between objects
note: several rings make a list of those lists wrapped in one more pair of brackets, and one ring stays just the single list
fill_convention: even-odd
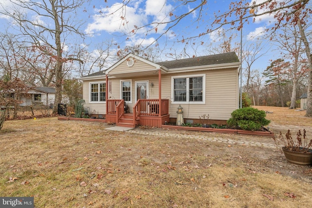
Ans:
[{"label": "red landscaping border right of the porch, edging the shrub bed", "polygon": [[245,131],[245,130],[237,130],[237,129],[214,129],[214,128],[203,128],[203,127],[171,126],[171,125],[162,125],[161,128],[162,129],[200,131],[200,132],[237,133],[237,134],[274,137],[274,133],[270,131],[269,132],[259,132],[259,131],[253,132],[253,131]]}]

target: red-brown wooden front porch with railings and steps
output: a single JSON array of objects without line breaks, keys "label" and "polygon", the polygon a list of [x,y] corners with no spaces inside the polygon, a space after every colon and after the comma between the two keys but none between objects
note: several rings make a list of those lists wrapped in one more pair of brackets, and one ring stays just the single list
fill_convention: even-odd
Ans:
[{"label": "red-brown wooden front porch with railings and steps", "polygon": [[[160,105],[159,105],[160,103]],[[139,99],[129,113],[125,113],[123,99],[108,99],[106,102],[106,122],[122,127],[154,126],[161,128],[169,121],[169,100]]]}]

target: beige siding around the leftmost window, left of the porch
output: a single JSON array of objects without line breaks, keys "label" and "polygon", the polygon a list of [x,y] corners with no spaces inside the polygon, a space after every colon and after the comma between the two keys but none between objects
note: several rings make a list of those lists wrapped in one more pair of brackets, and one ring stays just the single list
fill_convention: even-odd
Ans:
[{"label": "beige siding around the leftmost window, left of the porch", "polygon": [[89,113],[96,113],[96,114],[105,114],[106,113],[106,104],[101,103],[90,103],[90,82],[103,82],[105,81],[105,77],[103,79],[97,79],[92,81],[83,81],[83,99],[85,100],[84,107],[89,110]]}]

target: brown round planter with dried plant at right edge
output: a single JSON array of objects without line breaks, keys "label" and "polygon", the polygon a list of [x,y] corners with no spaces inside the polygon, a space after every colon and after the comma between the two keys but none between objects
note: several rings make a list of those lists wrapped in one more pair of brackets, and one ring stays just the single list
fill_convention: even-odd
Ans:
[{"label": "brown round planter with dried plant at right edge", "polygon": [[[282,147],[286,160],[297,165],[311,165],[312,164],[312,139],[310,142],[306,136],[306,130],[303,130],[303,135],[299,130],[297,138],[292,139],[291,131],[288,130],[285,137],[280,132],[278,139],[273,138],[275,145]],[[282,143],[279,145],[279,143]]]}]

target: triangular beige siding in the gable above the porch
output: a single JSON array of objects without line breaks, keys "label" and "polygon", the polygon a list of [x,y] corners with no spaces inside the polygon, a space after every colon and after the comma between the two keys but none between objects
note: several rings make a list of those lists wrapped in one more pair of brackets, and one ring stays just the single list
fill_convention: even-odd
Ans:
[{"label": "triangular beige siding in the gable above the porch", "polygon": [[110,75],[118,74],[118,73],[132,73],[132,72],[144,72],[147,70],[155,70],[154,66],[151,66],[143,61],[135,59],[135,63],[132,67],[127,65],[127,61],[123,61],[120,65],[118,65],[115,69],[110,71]]}]

